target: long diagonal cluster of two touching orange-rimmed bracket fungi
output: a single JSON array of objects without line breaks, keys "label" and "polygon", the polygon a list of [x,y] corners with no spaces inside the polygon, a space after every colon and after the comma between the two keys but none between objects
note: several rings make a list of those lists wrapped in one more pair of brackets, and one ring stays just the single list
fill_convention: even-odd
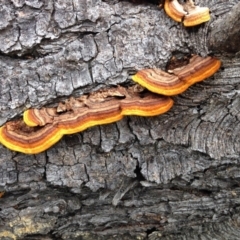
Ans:
[{"label": "long diagonal cluster of two touching orange-rimmed bracket fungi", "polygon": [[173,105],[169,96],[211,76],[219,67],[220,61],[216,58],[193,56],[186,66],[170,73],[160,69],[141,70],[133,76],[140,85],[103,89],[72,97],[57,107],[25,111],[23,119],[0,128],[0,142],[14,151],[35,154],[48,149],[66,134],[116,122],[127,115],[163,114]]}]

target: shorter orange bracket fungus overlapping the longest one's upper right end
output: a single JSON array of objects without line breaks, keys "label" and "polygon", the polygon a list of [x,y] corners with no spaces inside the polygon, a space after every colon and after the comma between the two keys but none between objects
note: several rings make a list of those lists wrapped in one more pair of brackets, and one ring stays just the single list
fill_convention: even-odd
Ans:
[{"label": "shorter orange bracket fungus overlapping the longest one's upper right end", "polygon": [[166,73],[161,69],[143,69],[132,79],[151,92],[167,96],[184,92],[189,86],[212,76],[221,66],[214,57],[194,55],[186,66]]}]

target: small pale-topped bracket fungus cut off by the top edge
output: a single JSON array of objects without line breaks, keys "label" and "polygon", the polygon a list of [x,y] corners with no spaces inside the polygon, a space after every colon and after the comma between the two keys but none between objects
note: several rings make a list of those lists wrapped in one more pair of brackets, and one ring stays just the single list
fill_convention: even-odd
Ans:
[{"label": "small pale-topped bracket fungus cut off by the top edge", "polygon": [[178,0],[165,0],[165,12],[177,22],[183,22],[185,27],[193,27],[210,20],[208,7],[195,6],[192,0],[180,4]]}]

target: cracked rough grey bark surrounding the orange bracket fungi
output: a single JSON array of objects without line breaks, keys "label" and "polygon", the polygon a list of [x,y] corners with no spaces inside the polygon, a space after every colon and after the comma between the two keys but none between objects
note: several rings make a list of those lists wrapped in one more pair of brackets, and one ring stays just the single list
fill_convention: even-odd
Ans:
[{"label": "cracked rough grey bark surrounding the orange bracket fungi", "polygon": [[[238,1],[196,2],[212,19],[185,29],[152,4],[3,0],[1,124],[129,84],[173,54],[216,51],[213,26]],[[38,155],[0,145],[0,237],[239,239],[239,58],[218,56],[221,71],[176,96],[166,114],[93,127]]]}]

